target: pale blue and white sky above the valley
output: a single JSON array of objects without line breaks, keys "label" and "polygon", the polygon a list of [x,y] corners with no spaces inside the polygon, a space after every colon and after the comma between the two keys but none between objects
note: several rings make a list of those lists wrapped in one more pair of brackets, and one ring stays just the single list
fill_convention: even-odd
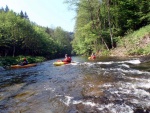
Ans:
[{"label": "pale blue and white sky above the valley", "polygon": [[75,11],[69,10],[64,0],[0,0],[0,8],[6,5],[16,13],[26,12],[30,21],[49,28],[61,27],[73,32]]}]

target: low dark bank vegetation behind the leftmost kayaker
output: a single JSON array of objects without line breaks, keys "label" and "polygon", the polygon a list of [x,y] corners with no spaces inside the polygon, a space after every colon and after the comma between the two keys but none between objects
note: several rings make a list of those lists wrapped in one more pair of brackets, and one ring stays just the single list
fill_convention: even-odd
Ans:
[{"label": "low dark bank vegetation behind the leftmost kayaker", "polygon": [[40,57],[40,56],[0,57],[0,66],[5,67],[5,66],[19,64],[20,62],[23,61],[23,58],[26,58],[28,60],[28,63],[39,63],[46,60],[44,57]]}]

